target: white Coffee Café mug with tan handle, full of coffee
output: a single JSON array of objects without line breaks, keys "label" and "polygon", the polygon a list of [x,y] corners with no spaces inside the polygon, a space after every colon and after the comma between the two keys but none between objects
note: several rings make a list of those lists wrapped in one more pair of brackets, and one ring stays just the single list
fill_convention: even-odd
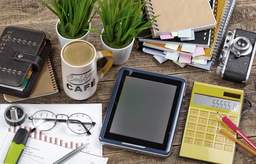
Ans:
[{"label": "white Coffee Caf\u00e9 mug with tan handle, full of coffee", "polygon": [[[97,60],[109,57],[108,62],[97,72]],[[61,69],[65,93],[74,100],[90,98],[97,83],[111,68],[113,53],[109,50],[96,51],[85,40],[68,42],[61,49]]]}]

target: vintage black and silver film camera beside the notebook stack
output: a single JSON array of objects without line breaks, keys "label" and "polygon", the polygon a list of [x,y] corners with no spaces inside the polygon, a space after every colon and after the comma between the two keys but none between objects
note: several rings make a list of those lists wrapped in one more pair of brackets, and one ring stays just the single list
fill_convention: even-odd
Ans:
[{"label": "vintage black and silver film camera beside the notebook stack", "polygon": [[224,80],[246,85],[256,50],[255,40],[256,33],[241,29],[228,31],[216,74]]}]

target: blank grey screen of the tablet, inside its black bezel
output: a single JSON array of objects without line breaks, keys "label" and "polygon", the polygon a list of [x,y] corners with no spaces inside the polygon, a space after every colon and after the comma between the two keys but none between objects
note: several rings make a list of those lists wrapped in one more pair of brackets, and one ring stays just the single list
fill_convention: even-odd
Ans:
[{"label": "blank grey screen of the tablet, inside its black bezel", "polygon": [[176,88],[127,76],[110,133],[163,144]]}]

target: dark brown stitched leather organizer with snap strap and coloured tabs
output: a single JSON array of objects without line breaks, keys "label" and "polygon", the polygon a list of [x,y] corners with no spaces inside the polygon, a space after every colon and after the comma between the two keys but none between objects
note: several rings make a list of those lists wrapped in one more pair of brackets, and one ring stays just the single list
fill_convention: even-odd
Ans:
[{"label": "dark brown stitched leather organizer with snap strap and coloured tabs", "polygon": [[51,48],[44,32],[6,27],[0,36],[0,93],[27,98]]}]

